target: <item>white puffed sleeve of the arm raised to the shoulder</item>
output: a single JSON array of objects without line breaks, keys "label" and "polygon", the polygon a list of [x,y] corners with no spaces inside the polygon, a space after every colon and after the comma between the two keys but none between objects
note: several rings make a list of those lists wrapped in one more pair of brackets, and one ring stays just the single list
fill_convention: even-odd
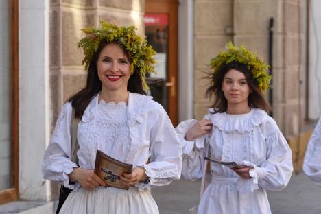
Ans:
[{"label": "white puffed sleeve of the arm raised to the shoulder", "polygon": [[[209,119],[208,115],[204,119]],[[185,139],[186,132],[195,124],[195,119],[182,121],[175,128],[176,134],[183,147],[182,158],[182,176],[189,180],[196,180],[202,178],[204,168],[204,154],[206,143],[206,135],[195,139],[195,141],[187,141]]]}]

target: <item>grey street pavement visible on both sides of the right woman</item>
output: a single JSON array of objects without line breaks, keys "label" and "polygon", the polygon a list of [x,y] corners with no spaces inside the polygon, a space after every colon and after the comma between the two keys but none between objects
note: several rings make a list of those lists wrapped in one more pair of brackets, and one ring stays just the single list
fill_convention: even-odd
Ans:
[{"label": "grey street pavement visible on both sides of the right woman", "polygon": [[[154,187],[152,195],[160,214],[189,213],[189,208],[198,204],[200,180],[181,179],[166,187]],[[304,173],[293,175],[282,191],[268,191],[268,198],[275,214],[321,214],[321,187]]]}]

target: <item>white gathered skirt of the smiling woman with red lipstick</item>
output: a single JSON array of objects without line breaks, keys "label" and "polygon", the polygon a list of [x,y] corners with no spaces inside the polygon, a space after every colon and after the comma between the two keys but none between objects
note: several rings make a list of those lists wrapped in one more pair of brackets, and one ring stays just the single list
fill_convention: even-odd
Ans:
[{"label": "white gathered skirt of the smiling woman with red lipstick", "polygon": [[159,211],[149,189],[139,191],[137,187],[128,190],[97,187],[88,191],[80,187],[68,195],[60,210],[60,214],[64,213],[158,214]]}]

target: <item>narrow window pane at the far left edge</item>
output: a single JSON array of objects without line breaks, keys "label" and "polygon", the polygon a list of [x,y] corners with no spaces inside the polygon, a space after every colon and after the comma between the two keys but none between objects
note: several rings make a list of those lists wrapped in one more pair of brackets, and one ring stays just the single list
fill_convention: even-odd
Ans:
[{"label": "narrow window pane at the far left edge", "polygon": [[0,1],[0,190],[10,188],[10,19],[9,1]]}]

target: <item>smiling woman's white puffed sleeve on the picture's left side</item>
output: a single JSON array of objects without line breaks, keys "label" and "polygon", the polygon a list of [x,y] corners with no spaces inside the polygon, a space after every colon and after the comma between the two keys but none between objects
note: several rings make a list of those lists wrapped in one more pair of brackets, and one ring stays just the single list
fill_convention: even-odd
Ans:
[{"label": "smiling woman's white puffed sleeve on the picture's left side", "polygon": [[67,102],[62,107],[58,116],[56,127],[51,135],[51,141],[43,156],[43,178],[61,182],[64,187],[78,189],[80,184],[69,183],[69,176],[73,167],[77,167],[71,161],[71,103]]}]

